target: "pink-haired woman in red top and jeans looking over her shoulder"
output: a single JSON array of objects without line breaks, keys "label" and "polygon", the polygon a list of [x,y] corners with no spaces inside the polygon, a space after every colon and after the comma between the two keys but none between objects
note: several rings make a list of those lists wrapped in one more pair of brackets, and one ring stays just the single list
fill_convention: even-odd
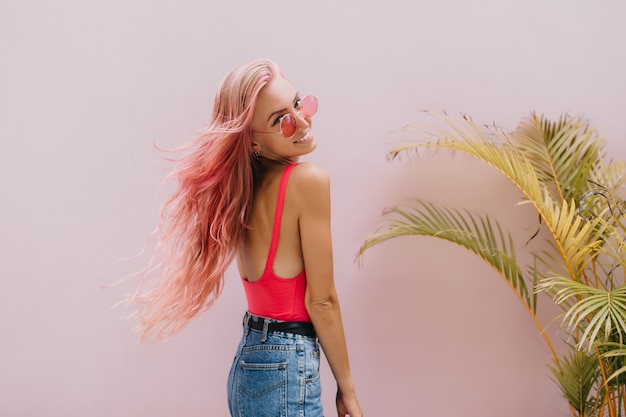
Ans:
[{"label": "pink-haired woman in red top and jeans looking over her shoulder", "polygon": [[134,297],[144,338],[167,339],[215,302],[236,258],[248,311],[228,378],[233,416],[321,416],[318,340],[338,415],[363,415],[333,281],[329,178],[298,163],[316,147],[316,111],[272,61],[226,76],[211,125],[173,174],[159,260]]}]

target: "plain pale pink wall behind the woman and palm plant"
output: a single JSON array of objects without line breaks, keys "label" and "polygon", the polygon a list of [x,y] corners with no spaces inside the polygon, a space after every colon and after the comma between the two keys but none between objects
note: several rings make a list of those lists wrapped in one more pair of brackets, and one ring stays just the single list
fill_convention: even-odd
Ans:
[{"label": "plain pale pink wall behind the woman and palm plant", "polygon": [[536,111],[586,117],[608,157],[626,158],[625,18],[621,0],[0,1],[0,415],[227,415],[245,309],[234,271],[164,347],[139,345],[112,308],[127,287],[101,287],[141,265],[120,260],[171,190],[154,145],[192,140],[226,72],[261,57],[320,98],[307,160],[332,176],[365,414],[567,415],[546,344],[488,266],[427,238],[378,246],[360,267],[354,254],[385,207],[413,198],[490,213],[524,252],[536,218],[497,173],[445,152],[385,154],[429,121],[421,110],[506,129]]}]

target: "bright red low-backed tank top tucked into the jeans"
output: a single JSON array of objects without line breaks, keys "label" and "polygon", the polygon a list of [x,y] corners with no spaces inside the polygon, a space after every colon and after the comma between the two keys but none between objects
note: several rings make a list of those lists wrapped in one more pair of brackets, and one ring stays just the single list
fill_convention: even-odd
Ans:
[{"label": "bright red low-backed tank top tucked into the jeans", "polygon": [[304,306],[304,292],[306,290],[306,272],[302,270],[294,278],[281,278],[274,273],[274,257],[280,237],[280,223],[285,202],[285,191],[289,174],[296,164],[289,164],[280,179],[278,201],[274,215],[274,227],[270,251],[263,275],[257,281],[249,282],[242,279],[243,287],[248,299],[248,311],[254,315],[268,317],[281,321],[310,322],[309,314]]}]

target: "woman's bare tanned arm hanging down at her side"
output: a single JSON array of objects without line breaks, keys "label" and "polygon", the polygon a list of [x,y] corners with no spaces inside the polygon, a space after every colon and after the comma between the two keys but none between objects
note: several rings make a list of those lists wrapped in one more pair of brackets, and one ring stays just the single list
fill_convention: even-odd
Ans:
[{"label": "woman's bare tanned arm hanging down at her side", "polygon": [[338,413],[361,417],[333,277],[330,178],[326,171],[310,163],[300,164],[296,169],[300,237],[307,275],[305,305],[337,381]]}]

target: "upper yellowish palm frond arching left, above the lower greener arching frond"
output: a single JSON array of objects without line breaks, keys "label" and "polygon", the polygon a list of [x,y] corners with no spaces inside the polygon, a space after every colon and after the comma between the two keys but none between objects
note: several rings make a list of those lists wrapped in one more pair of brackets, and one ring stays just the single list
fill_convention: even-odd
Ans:
[{"label": "upper yellowish palm frond arching left, above the lower greener arching frond", "polygon": [[[561,149],[564,144],[579,142],[575,133],[580,133],[583,129],[582,122],[563,120],[559,124],[549,125],[544,121],[543,127],[530,125],[534,126],[537,132],[544,132],[543,134],[558,139],[558,146],[555,145],[557,149],[551,151],[545,150],[545,142],[550,143],[550,140],[552,142],[554,140],[539,140],[537,139],[538,133],[531,135],[528,128],[518,129],[517,141],[513,141],[503,131],[478,125],[468,118],[459,121],[446,117],[444,122],[449,127],[447,130],[426,133],[427,137],[430,136],[436,140],[401,143],[389,152],[389,157],[393,159],[402,153],[419,152],[424,148],[448,149],[465,153],[494,167],[525,195],[527,202],[533,204],[554,238],[555,249],[561,257],[561,263],[565,264],[567,273],[572,279],[578,276],[581,265],[584,265],[584,259],[599,244],[598,238],[589,226],[583,225],[580,219],[577,219],[575,205],[564,203],[558,196],[554,196],[549,187],[542,182],[539,176],[544,175],[542,169],[547,168],[539,169],[537,166],[540,164],[532,161],[539,159],[537,155],[556,154],[553,158],[555,160],[550,160],[550,163],[546,164],[554,169],[558,168],[559,171],[566,170],[565,162],[561,162],[557,156],[564,159],[560,156],[564,152]],[[586,154],[595,155],[597,152],[595,148],[591,151],[585,146],[580,146],[580,148],[581,156],[578,160],[584,159],[583,156]],[[551,178],[554,178],[554,175]],[[577,227],[571,226],[572,221]],[[582,230],[578,230],[578,226]],[[573,234],[576,235],[576,239],[572,239]],[[579,250],[581,248],[584,250]]]}]

